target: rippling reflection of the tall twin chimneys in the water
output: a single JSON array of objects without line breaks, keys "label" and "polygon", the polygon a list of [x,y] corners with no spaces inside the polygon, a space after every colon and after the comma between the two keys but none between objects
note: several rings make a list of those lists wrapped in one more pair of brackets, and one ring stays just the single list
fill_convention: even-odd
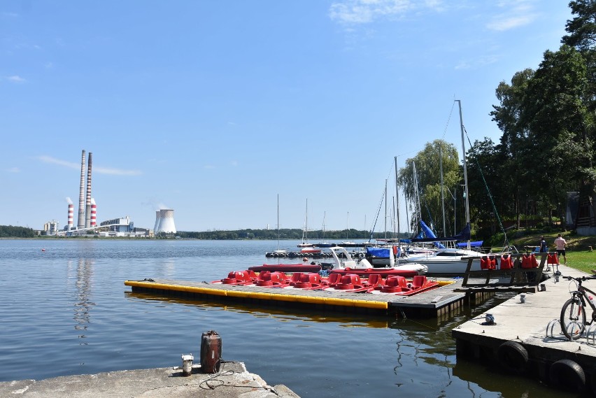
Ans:
[{"label": "rippling reflection of the tall twin chimneys in the water", "polygon": [[[87,327],[91,322],[91,308],[95,305],[90,300],[93,288],[93,260],[78,259],[76,269],[72,268],[73,260],[69,260],[67,269],[69,273],[74,273],[74,329],[78,332],[79,339],[86,339]],[[80,345],[86,346],[87,342],[81,340]]]}]

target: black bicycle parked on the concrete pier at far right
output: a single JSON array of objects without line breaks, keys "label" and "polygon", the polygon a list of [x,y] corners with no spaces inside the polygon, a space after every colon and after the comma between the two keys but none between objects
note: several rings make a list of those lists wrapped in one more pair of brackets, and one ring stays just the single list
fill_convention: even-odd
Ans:
[{"label": "black bicycle parked on the concrete pier at far right", "polygon": [[[588,287],[582,286],[581,283],[584,280],[596,279],[596,276],[579,276],[573,278],[572,276],[563,276],[567,280],[575,280],[577,290],[571,293],[571,299],[565,301],[561,308],[561,329],[565,337],[570,341],[579,339],[579,337],[585,332],[586,325],[592,325],[592,322],[596,320],[596,305],[592,299],[588,296],[588,293],[593,294],[596,300],[596,292],[588,289]],[[586,303],[592,308],[592,320],[586,322]]]}]

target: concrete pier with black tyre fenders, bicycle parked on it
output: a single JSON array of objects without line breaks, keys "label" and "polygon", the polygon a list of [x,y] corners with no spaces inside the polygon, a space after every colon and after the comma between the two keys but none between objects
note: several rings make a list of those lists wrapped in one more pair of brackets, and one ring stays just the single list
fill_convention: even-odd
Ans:
[{"label": "concrete pier with black tyre fenders, bicycle parked on it", "polygon": [[[455,327],[451,333],[457,357],[495,364],[506,372],[538,378],[555,388],[596,393],[595,336],[588,334],[568,341],[562,334],[561,308],[576,285],[562,276],[557,280],[553,272],[557,268],[562,276],[587,276],[568,266],[554,267],[546,273],[551,278],[541,282],[545,290],[517,294],[481,318]],[[596,280],[587,280],[586,287],[595,290]],[[590,319],[591,311],[587,312],[586,318]]]}]

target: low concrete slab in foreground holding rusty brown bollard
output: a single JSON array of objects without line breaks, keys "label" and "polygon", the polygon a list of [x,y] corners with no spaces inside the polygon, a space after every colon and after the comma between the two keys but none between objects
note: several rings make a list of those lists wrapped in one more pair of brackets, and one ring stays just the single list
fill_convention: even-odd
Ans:
[{"label": "low concrete slab in foreground holding rusty brown bollard", "polygon": [[193,365],[190,376],[183,376],[182,367],[169,367],[6,381],[0,397],[299,398],[285,385],[267,385],[242,362],[223,363],[219,374],[203,374],[201,365]]}]

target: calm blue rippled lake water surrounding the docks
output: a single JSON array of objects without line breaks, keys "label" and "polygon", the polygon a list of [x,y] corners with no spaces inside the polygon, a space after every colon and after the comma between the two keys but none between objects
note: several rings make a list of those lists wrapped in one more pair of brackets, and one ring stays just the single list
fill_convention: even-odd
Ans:
[{"label": "calm blue rippled lake water surrounding the docks", "polygon": [[223,360],[244,362],[301,397],[576,397],[456,359],[450,330],[502,297],[439,322],[185,301],[124,285],[217,280],[274,262],[264,253],[276,248],[277,241],[0,240],[0,381],[180,366],[188,353],[198,362],[201,334],[213,329]]}]

